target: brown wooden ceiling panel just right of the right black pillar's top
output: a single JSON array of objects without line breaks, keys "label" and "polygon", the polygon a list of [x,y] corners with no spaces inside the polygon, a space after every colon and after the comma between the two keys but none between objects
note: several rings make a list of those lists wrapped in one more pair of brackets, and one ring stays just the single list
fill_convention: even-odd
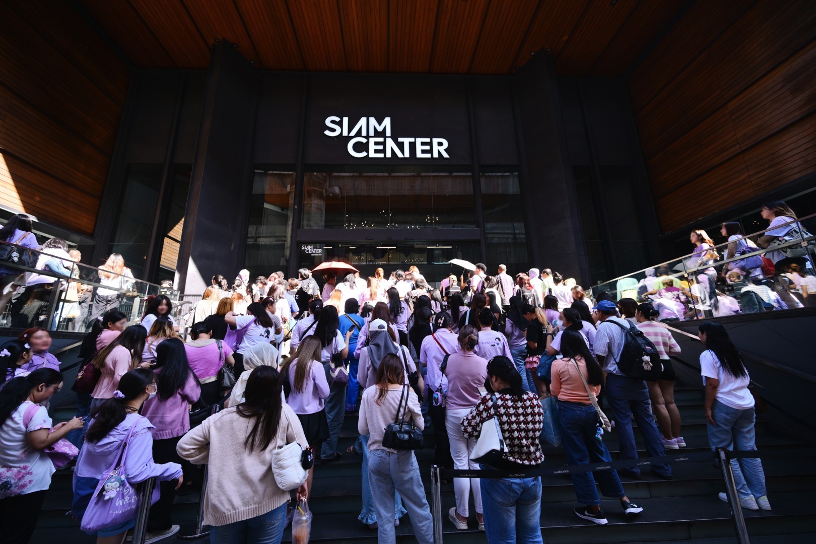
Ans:
[{"label": "brown wooden ceiling panel just right of the right black pillar's top", "polygon": [[615,33],[626,23],[637,3],[634,0],[614,3],[610,0],[590,0],[587,11],[579,21],[578,32],[567,39],[564,49],[557,56],[558,73],[565,76],[588,73]]}]

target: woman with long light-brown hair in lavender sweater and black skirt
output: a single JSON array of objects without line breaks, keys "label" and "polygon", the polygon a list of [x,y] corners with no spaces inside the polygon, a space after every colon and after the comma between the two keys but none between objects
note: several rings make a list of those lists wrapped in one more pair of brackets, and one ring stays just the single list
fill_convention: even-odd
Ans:
[{"label": "woman with long light-brown hair in lavender sweater and black skirt", "polygon": [[[323,343],[310,334],[298,346],[298,351],[283,364],[283,390],[289,391],[286,404],[297,414],[304,429],[306,441],[313,451],[320,452],[329,437],[326,421],[326,399],[329,398],[329,382],[321,363]],[[308,471],[307,498],[312,493],[314,467]]]}]

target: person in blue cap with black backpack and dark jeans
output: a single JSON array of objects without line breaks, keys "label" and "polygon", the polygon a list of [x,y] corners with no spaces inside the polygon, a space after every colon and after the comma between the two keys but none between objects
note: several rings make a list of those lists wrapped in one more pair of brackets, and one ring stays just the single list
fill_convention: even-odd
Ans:
[{"label": "person in blue cap with black backpack and dark jeans", "polygon": [[[636,459],[637,446],[632,430],[632,418],[637,422],[650,457],[662,457],[663,437],[658,431],[649,404],[649,388],[645,379],[658,379],[662,370],[654,343],[640,329],[618,317],[618,307],[611,300],[602,300],[592,308],[597,324],[595,350],[597,360],[606,374],[606,400],[612,408],[615,429],[620,440],[620,458]],[[672,478],[672,467],[652,463],[652,471],[661,478]],[[618,471],[634,480],[641,479],[641,469],[632,467]]]}]

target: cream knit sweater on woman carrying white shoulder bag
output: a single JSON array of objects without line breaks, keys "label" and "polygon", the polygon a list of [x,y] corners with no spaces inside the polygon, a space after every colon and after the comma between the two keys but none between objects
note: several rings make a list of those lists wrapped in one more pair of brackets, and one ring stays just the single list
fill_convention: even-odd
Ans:
[{"label": "cream knit sweater on woman carrying white shoulder bag", "polygon": [[242,418],[230,407],[206,418],[179,441],[176,451],[194,464],[208,464],[204,524],[226,525],[273,511],[289,500],[272,473],[275,449],[297,442],[308,446],[295,412],[282,405],[277,435],[263,451],[244,448],[255,418]]}]

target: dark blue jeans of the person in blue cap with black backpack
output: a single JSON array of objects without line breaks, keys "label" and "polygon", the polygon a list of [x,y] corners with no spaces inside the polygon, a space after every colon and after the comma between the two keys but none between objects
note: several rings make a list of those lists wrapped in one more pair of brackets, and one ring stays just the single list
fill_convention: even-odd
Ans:
[{"label": "dark blue jeans of the person in blue cap with black backpack", "polygon": [[[618,374],[608,374],[606,376],[606,396],[612,408],[612,415],[615,423],[615,431],[618,431],[620,440],[620,458],[636,459],[637,446],[635,444],[635,434],[632,431],[632,418],[637,422],[637,428],[641,431],[649,457],[660,457],[666,455],[663,449],[663,436],[658,431],[658,426],[654,422],[649,404],[649,388],[643,380],[635,380]],[[636,474],[641,473],[641,469],[632,466],[628,469]],[[672,475],[672,467],[667,464],[653,464],[652,470],[663,476]]]}]

